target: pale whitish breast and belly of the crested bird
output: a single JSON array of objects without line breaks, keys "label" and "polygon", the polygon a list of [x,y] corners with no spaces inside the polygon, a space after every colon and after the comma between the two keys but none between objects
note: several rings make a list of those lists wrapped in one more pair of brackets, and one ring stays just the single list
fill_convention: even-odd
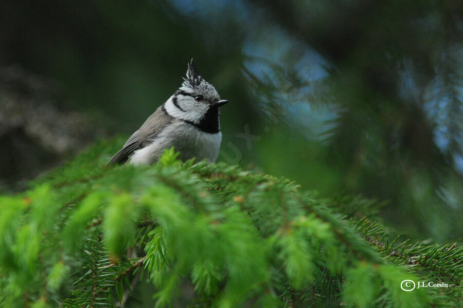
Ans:
[{"label": "pale whitish breast and belly of the crested bird", "polygon": [[196,126],[183,121],[170,124],[153,140],[153,143],[136,150],[130,158],[130,163],[152,164],[159,160],[164,149],[172,146],[175,151],[180,151],[179,158],[186,161],[197,158],[197,161],[208,159],[215,162],[219,155],[222,133],[206,133]]}]

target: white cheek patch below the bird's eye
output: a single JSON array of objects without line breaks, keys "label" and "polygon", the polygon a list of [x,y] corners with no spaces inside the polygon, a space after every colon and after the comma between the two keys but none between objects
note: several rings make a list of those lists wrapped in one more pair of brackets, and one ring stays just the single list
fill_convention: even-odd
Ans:
[{"label": "white cheek patch below the bird's eye", "polygon": [[[207,109],[209,106],[206,104],[195,104],[192,99],[189,99],[190,97],[187,97],[186,95],[177,95],[177,105],[179,107],[175,106],[175,104],[172,101],[173,97],[170,97],[169,100],[164,104],[164,107],[166,108],[167,113],[174,118],[181,119],[184,121],[189,121],[193,122],[195,124],[198,124],[199,121],[203,118],[204,114],[206,114]],[[188,98],[188,99],[187,99]]]}]

